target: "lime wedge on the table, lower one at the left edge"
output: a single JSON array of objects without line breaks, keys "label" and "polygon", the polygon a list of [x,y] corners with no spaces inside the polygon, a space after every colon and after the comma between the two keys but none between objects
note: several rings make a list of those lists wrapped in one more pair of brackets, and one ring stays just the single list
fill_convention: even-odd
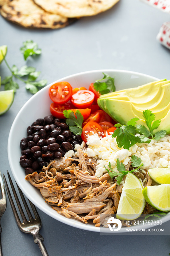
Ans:
[{"label": "lime wedge on the table, lower one at the left edge", "polygon": [[14,99],[14,91],[0,91],[0,116],[8,111]]}]

